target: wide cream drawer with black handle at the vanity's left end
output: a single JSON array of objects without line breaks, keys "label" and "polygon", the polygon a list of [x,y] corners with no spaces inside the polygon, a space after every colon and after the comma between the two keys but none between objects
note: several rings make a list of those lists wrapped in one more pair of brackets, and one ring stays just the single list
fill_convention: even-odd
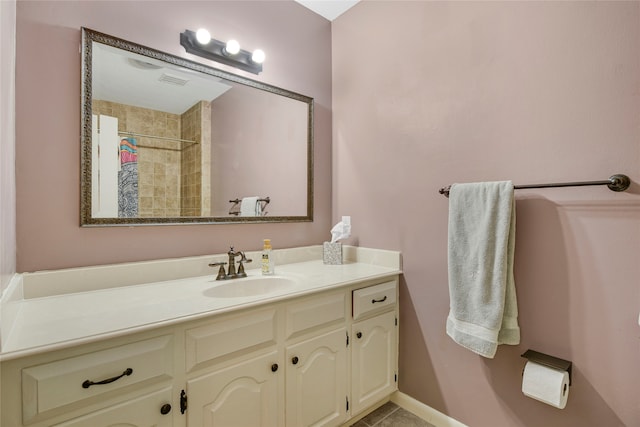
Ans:
[{"label": "wide cream drawer with black handle at the vanity's left end", "polygon": [[115,397],[134,385],[144,386],[172,376],[172,335],[25,368],[23,422],[62,407],[80,408]]}]

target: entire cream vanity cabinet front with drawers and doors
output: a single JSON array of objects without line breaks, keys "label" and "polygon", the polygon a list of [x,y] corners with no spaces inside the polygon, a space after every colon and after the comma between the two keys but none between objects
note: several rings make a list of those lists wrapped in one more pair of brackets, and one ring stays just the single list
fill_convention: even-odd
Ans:
[{"label": "entire cream vanity cabinet front with drawers and doors", "polygon": [[397,389],[395,277],[3,361],[0,425],[345,425]]}]

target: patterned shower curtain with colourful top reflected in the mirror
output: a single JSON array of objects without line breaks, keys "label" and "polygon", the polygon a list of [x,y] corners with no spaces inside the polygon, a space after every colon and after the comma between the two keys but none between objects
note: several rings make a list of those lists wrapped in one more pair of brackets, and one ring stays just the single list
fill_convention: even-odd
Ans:
[{"label": "patterned shower curtain with colourful top reflected in the mirror", "polygon": [[138,216],[138,150],[135,138],[120,140],[118,171],[118,217]]}]

